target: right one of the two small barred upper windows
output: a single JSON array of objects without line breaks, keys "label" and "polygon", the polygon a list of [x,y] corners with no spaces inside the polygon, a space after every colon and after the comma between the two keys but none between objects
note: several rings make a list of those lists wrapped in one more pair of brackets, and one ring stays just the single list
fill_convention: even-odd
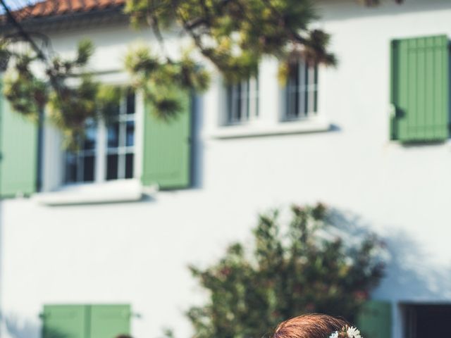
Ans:
[{"label": "right one of the two small barred upper windows", "polygon": [[285,89],[285,118],[295,120],[316,115],[318,110],[318,65],[299,60],[292,66]]}]

